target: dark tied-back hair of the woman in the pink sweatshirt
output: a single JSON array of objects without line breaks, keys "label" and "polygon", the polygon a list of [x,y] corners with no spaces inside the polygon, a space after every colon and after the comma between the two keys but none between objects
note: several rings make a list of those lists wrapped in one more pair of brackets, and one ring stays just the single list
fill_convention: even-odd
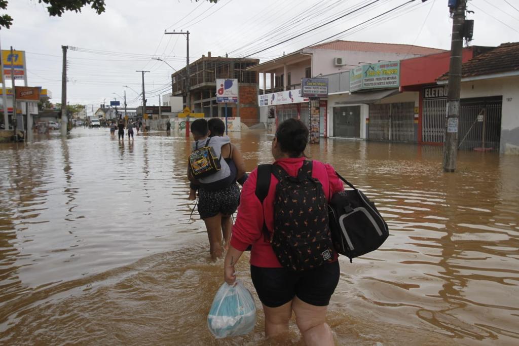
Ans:
[{"label": "dark tied-back hair of the woman in the pink sweatshirt", "polygon": [[290,118],[283,121],[278,126],[276,138],[281,151],[289,157],[304,156],[303,151],[308,143],[308,129],[301,120]]}]

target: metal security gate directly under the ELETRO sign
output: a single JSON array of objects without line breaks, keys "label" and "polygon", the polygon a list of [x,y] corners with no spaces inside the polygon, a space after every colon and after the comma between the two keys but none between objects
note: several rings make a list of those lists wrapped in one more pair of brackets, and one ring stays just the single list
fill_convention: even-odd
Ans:
[{"label": "metal security gate directly under the ELETRO sign", "polygon": [[443,143],[447,99],[424,100],[422,142]]}]

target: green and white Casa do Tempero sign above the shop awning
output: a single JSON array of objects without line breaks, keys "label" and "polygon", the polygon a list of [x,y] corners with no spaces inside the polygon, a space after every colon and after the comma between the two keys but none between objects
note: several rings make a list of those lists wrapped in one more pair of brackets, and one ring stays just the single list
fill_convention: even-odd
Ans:
[{"label": "green and white Casa do Tempero sign above the shop awning", "polygon": [[400,87],[400,61],[362,65],[350,71],[350,91]]}]

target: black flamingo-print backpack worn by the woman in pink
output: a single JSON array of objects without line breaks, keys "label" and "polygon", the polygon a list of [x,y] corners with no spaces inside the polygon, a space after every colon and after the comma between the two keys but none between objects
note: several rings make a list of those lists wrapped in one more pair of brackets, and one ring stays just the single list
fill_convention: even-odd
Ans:
[{"label": "black flamingo-print backpack worn by the woman in pink", "polygon": [[279,165],[258,167],[256,196],[263,202],[270,185],[270,173],[278,179],[274,199],[274,232],[265,223],[280,264],[293,271],[317,268],[334,259],[326,196],[321,182],[312,177],[312,161],[304,161],[296,177]]}]

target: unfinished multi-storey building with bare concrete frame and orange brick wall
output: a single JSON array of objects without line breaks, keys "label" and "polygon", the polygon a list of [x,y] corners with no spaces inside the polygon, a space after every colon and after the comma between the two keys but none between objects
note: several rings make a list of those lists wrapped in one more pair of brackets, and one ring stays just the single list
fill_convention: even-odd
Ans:
[{"label": "unfinished multi-storey building with bare concrete frame and orange brick wall", "polygon": [[216,103],[216,79],[238,79],[238,103],[227,104],[229,117],[240,117],[248,126],[260,120],[258,112],[258,73],[247,71],[247,67],[257,65],[258,59],[238,59],[228,57],[207,57],[189,65],[190,102],[186,104],[186,68],[171,75],[172,95],[183,96],[184,105],[189,105],[192,112],[204,113],[206,117],[225,116],[225,104]]}]

